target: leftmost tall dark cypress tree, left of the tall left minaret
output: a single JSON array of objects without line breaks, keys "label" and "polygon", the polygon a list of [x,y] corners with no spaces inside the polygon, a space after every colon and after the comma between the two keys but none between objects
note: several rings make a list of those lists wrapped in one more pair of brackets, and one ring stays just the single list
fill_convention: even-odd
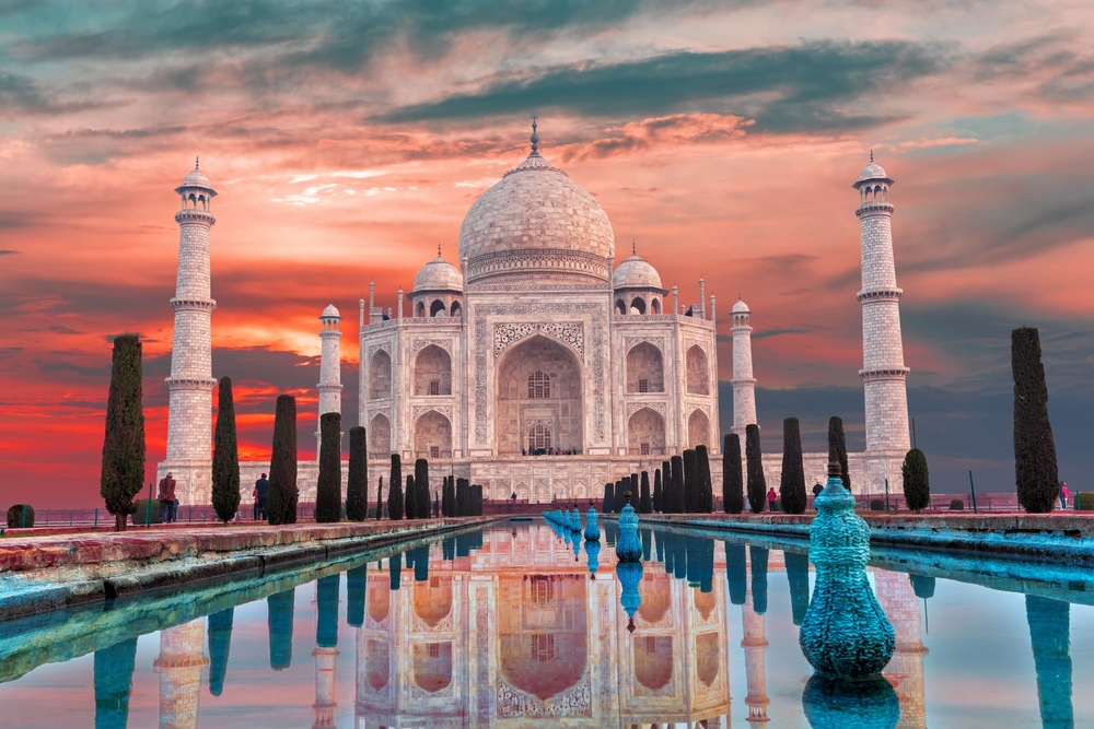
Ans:
[{"label": "leftmost tall dark cypress tree, left of the tall left minaret", "polygon": [[110,391],[100,494],[114,515],[114,531],[125,531],[133,497],[144,481],[144,409],[141,404],[141,344],[136,334],[114,338]]}]

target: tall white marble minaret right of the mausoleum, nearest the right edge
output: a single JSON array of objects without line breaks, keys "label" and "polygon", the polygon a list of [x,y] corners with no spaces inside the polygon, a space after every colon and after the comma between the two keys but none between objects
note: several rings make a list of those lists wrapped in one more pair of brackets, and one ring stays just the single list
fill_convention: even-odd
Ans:
[{"label": "tall white marble minaret right of the mausoleum, nearest the right edge", "polygon": [[[900,339],[900,296],[893,262],[893,205],[888,189],[893,180],[881,165],[870,164],[852,187],[859,191],[862,239],[862,377],[866,396],[866,454],[893,451],[904,457],[908,438],[909,369],[904,366]],[[897,485],[897,484],[893,484]]]}]

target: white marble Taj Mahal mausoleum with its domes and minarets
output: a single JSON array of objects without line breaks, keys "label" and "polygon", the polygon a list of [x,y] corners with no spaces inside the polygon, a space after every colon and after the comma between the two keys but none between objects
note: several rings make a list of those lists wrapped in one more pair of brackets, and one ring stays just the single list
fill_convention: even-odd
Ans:
[{"label": "white marble Taj Mahal mausoleum with its domes and minarets", "polygon": [[[689,292],[666,290],[633,246],[629,256],[617,251],[604,209],[539,154],[535,122],[531,141],[527,158],[467,212],[456,262],[439,246],[394,305],[377,302],[374,284],[359,302],[357,420],[368,428],[370,481],[399,454],[431,461],[432,491],[454,474],[481,484],[488,499],[596,498],[605,483],[652,473],[701,444],[720,493],[714,294],[707,295],[702,279]],[[866,449],[849,455],[857,493],[881,493],[886,480],[899,491],[910,447],[892,185],[872,156],[853,184],[866,407]],[[182,208],[167,454],[158,478],[171,471],[181,503],[201,505],[211,502],[217,191],[195,166],[175,192]],[[730,316],[732,431],[743,445],[745,427],[757,422],[752,311],[738,298]],[[319,414],[342,411],[344,387],[341,313],[331,304],[319,322],[316,430]],[[309,427],[310,418],[301,414],[298,427]],[[777,451],[764,455],[767,482],[778,489],[781,438],[765,439]],[[806,479],[823,480],[827,459],[806,454]],[[245,502],[268,470],[268,461],[241,462]],[[314,501],[317,472],[315,461],[299,463],[301,502]]]}]

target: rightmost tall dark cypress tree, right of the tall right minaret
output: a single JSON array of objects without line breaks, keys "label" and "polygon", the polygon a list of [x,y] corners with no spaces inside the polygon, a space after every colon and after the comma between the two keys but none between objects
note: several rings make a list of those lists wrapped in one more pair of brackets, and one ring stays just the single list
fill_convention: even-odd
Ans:
[{"label": "rightmost tall dark cypress tree, right of the tall right minaret", "polygon": [[1052,425],[1048,421],[1048,386],[1040,361],[1040,337],[1022,327],[1011,332],[1014,375],[1014,483],[1019,504],[1031,514],[1047,514],[1060,493]]}]

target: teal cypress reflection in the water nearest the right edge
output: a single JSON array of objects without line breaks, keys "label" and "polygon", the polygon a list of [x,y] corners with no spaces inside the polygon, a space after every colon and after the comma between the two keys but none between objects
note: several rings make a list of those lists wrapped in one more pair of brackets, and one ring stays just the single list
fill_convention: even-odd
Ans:
[{"label": "teal cypress reflection in the water nearest the right edge", "polygon": [[1040,722],[1045,729],[1072,729],[1071,706],[1071,604],[1026,596],[1026,621],[1037,668]]}]

